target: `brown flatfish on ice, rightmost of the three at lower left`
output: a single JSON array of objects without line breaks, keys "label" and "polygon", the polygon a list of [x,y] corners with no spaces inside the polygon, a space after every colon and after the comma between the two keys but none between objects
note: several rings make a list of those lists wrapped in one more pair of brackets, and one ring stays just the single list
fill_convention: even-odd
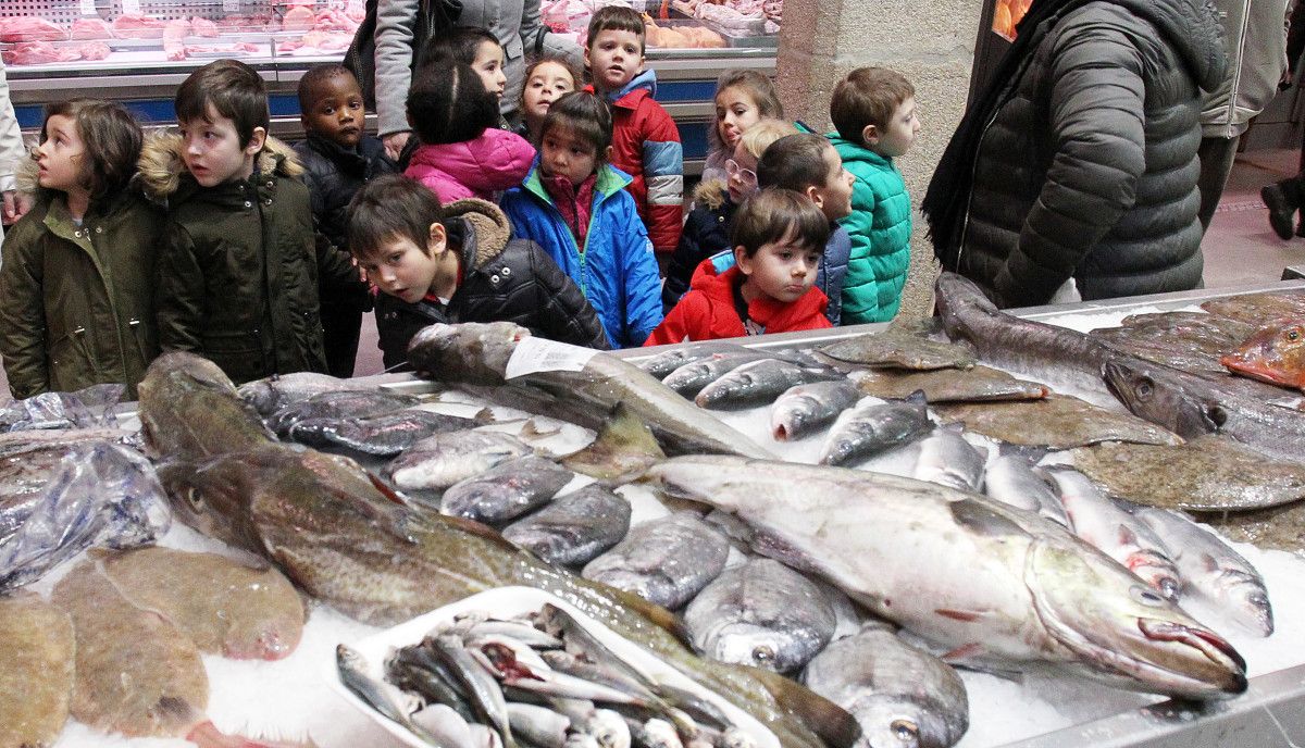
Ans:
[{"label": "brown flatfish on ice, rightmost of the three at lower left", "polygon": [[299,593],[268,564],[153,547],[104,553],[100,569],[132,604],[167,619],[204,653],[282,659],[304,632]]}]

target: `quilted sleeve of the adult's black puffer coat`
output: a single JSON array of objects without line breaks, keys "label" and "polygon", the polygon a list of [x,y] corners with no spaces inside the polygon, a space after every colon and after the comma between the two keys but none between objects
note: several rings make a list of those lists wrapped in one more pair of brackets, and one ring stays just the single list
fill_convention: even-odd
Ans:
[{"label": "quilted sleeve of the adult's black puffer coat", "polygon": [[1054,155],[1019,244],[993,278],[1000,307],[1045,303],[1133,206],[1146,170],[1138,48],[1118,31],[1087,29],[1062,38],[1051,65]]}]

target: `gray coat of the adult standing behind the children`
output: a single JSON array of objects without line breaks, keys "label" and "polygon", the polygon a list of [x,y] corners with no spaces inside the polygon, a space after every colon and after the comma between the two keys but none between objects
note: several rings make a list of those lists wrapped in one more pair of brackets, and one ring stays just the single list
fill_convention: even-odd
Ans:
[{"label": "gray coat of the adult standing behind the children", "polygon": [[[380,0],[376,8],[376,115],[385,137],[411,129],[407,124],[407,91],[412,82],[412,26],[420,0]],[[535,51],[543,34],[543,50],[568,55],[581,64],[579,47],[565,37],[549,34],[539,22],[539,0],[462,0],[459,26],[479,26],[502,44],[508,87],[502,94],[504,112],[517,108],[526,55]]]}]

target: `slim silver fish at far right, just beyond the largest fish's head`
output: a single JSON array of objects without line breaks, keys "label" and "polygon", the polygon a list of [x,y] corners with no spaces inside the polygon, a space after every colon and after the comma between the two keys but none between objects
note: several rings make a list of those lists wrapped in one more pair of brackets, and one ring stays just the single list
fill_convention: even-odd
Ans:
[{"label": "slim silver fish at far right, just beyond the largest fish's head", "polygon": [[1214,533],[1169,509],[1141,506],[1134,516],[1165,547],[1184,580],[1184,595],[1210,602],[1221,615],[1257,636],[1274,633],[1274,606],[1259,570]]}]

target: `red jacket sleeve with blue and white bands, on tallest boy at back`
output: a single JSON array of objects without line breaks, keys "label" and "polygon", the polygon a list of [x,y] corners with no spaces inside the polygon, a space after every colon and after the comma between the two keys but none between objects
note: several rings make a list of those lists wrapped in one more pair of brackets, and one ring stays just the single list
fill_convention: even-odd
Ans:
[{"label": "red jacket sleeve with blue and white bands, on tallest boy at back", "polygon": [[643,180],[647,185],[649,238],[658,252],[680,243],[684,223],[684,148],[675,120],[652,99],[643,133]]}]

